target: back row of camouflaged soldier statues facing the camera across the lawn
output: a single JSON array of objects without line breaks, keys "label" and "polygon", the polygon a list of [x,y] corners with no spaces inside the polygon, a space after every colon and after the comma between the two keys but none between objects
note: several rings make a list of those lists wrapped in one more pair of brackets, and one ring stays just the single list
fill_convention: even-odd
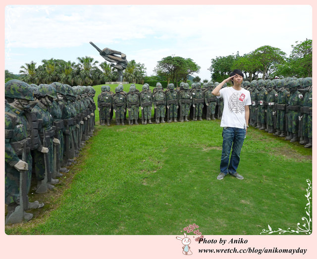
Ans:
[{"label": "back row of camouflaged soldier statues facing the camera across the lawn", "polygon": [[[215,120],[215,108],[217,99],[211,91],[214,84],[212,82],[189,84],[181,83],[180,87],[175,88],[174,84],[168,84],[167,89],[163,90],[162,85],[157,83],[151,91],[148,84],[142,86],[142,91],[136,89],[131,84],[129,92],[123,91],[123,86],[115,87],[115,92],[110,91],[109,86],[101,87],[101,94],[98,95],[98,110],[100,124],[110,125],[115,113],[116,125],[124,125],[126,113],[128,112],[129,125],[138,125],[139,111],[141,107],[142,124],[152,124],[152,109],[154,107],[154,118],[157,124],[167,122],[188,122]],[[218,116],[221,116],[223,103],[218,100]]]}]

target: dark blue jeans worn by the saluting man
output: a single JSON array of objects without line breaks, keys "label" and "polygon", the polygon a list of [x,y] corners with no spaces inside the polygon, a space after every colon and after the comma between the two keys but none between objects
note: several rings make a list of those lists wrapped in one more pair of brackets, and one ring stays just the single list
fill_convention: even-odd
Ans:
[{"label": "dark blue jeans worn by the saluting man", "polygon": [[[243,145],[243,141],[246,135],[245,129],[224,127],[222,130],[222,154],[220,162],[221,173],[237,172],[237,168],[240,162],[240,152]],[[232,154],[229,163],[230,151],[232,148]]]}]

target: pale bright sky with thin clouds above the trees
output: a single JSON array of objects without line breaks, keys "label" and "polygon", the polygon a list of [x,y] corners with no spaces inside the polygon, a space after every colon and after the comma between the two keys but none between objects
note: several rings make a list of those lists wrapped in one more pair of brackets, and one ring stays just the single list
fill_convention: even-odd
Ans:
[{"label": "pale bright sky with thin clouds above the trees", "polygon": [[[310,5],[7,5],[5,69],[19,74],[43,59],[105,59],[89,43],[126,54],[155,75],[170,55],[191,58],[211,79],[211,59],[270,45],[288,56],[312,39]],[[296,43],[297,42],[297,43]]]}]

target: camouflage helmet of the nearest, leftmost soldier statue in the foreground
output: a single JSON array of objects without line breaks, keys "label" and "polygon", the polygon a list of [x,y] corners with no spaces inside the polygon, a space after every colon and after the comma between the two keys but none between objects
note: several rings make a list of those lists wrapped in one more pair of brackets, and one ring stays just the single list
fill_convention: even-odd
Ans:
[{"label": "camouflage helmet of the nearest, leftmost soldier statue in the foreground", "polygon": [[33,91],[29,84],[17,80],[11,79],[5,83],[5,97],[24,99],[28,101],[33,101]]}]

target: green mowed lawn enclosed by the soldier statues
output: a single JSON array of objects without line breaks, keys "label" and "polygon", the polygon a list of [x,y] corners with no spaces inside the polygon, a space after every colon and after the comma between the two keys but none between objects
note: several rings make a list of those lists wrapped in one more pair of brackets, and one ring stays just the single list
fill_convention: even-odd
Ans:
[{"label": "green mowed lawn enclosed by the soldier statues", "polygon": [[96,125],[66,174],[71,184],[61,179],[49,205],[6,233],[176,235],[192,223],[205,235],[296,229],[307,216],[312,150],[250,128],[238,168],[245,179],[217,180],[221,130],[218,120]]}]

